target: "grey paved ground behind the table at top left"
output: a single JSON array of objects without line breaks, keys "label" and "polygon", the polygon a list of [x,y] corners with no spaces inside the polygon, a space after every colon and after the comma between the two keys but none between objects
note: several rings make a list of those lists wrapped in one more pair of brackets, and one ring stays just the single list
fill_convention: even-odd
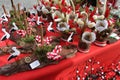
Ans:
[{"label": "grey paved ground behind the table at top left", "polygon": [[[21,3],[26,8],[30,8],[33,4],[37,4],[37,0],[13,0],[15,5],[17,6],[18,3]],[[10,0],[0,0],[0,14],[3,13],[2,4],[5,5],[7,10],[11,9],[11,2]]]}]

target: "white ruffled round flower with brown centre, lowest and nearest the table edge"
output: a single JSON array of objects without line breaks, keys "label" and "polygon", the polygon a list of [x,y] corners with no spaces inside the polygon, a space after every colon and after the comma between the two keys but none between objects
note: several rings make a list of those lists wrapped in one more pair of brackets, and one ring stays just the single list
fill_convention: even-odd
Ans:
[{"label": "white ruffled round flower with brown centre, lowest and nearest the table edge", "polygon": [[86,42],[88,44],[94,42],[95,39],[96,39],[96,35],[95,35],[94,32],[88,32],[88,31],[86,31],[86,32],[84,32],[82,34],[82,41]]}]

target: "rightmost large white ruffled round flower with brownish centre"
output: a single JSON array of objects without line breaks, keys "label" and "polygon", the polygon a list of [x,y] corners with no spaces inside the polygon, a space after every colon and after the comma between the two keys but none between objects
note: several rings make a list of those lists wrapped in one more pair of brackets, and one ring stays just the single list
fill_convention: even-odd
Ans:
[{"label": "rightmost large white ruffled round flower with brownish centre", "polygon": [[98,21],[96,22],[95,28],[96,28],[96,30],[99,31],[99,32],[107,29],[107,28],[108,28],[108,22],[107,22],[107,20],[98,20]]}]

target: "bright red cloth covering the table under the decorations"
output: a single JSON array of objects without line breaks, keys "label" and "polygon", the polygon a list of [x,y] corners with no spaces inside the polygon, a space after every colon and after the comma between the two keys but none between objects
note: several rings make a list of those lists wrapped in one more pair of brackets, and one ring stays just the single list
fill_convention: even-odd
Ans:
[{"label": "bright red cloth covering the table under the decorations", "polygon": [[[47,36],[58,35],[58,33],[47,33]],[[73,43],[77,45],[78,43],[78,36],[74,37]],[[14,42],[10,40],[0,42],[0,47],[12,45]],[[61,42],[61,44],[63,44]],[[83,64],[85,60],[95,57],[96,59],[100,60],[105,65],[110,64],[116,57],[120,56],[120,41],[107,45],[106,47],[97,47],[92,44],[89,53],[80,53],[78,52],[75,57],[70,59],[65,59],[56,65],[49,65],[44,68],[26,71],[17,73],[11,76],[0,76],[1,80],[69,80],[69,74],[74,67],[79,64]],[[21,54],[20,57],[24,57],[26,54]],[[13,62],[7,62],[8,55],[0,56],[0,66],[4,64],[8,64]],[[119,59],[120,60],[120,59]]]}]

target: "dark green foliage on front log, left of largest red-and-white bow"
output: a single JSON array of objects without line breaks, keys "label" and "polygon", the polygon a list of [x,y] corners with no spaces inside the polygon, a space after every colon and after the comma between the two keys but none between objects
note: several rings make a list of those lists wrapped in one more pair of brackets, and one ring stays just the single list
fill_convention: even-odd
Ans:
[{"label": "dark green foliage on front log, left of largest red-and-white bow", "polygon": [[34,53],[41,62],[49,63],[52,62],[53,60],[49,60],[46,54],[47,52],[51,52],[53,49],[54,46],[44,45],[42,47],[37,47]]}]

